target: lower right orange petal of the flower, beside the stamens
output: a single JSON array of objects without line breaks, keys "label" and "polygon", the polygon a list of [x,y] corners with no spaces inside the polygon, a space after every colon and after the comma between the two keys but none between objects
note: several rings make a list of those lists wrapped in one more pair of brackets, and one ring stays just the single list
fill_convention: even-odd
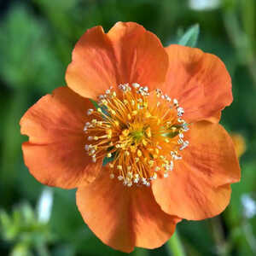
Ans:
[{"label": "lower right orange petal of the flower, beside the stamens", "polygon": [[154,181],[154,197],[163,211],[179,218],[211,218],[227,207],[230,183],[240,179],[235,148],[218,124],[201,121],[188,133],[183,159],[175,162],[170,177]]}]

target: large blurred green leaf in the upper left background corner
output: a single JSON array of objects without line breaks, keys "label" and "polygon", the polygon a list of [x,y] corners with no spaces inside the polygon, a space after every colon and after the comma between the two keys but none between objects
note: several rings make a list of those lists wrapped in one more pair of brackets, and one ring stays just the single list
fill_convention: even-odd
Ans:
[{"label": "large blurred green leaf in the upper left background corner", "polygon": [[64,82],[46,26],[29,9],[16,5],[0,28],[0,74],[6,84],[45,93]]}]

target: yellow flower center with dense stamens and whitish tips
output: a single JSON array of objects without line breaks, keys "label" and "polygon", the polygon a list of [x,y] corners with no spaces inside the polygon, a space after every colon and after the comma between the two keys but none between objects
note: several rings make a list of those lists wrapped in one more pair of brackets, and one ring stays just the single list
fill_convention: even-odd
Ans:
[{"label": "yellow flower center with dense stamens and whitish tips", "polygon": [[110,178],[124,185],[150,186],[157,177],[168,177],[178,154],[189,145],[184,140],[188,124],[176,99],[157,89],[148,92],[140,84],[120,84],[88,109],[90,122],[84,126],[88,144],[85,150],[93,162],[103,160]]}]

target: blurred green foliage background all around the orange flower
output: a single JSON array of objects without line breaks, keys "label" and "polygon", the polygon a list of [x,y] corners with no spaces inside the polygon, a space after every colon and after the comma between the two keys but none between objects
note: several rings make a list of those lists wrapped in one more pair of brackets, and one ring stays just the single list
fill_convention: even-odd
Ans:
[{"label": "blurred green foliage background all around the orange flower", "polygon": [[[74,44],[86,29],[136,21],[166,46],[200,25],[197,47],[218,55],[233,79],[234,102],[221,123],[244,138],[241,183],[216,218],[177,224],[155,250],[131,255],[256,255],[256,1],[31,0],[0,3],[0,255],[125,255],[86,227],[75,191],[48,189],[22,160],[19,120],[41,96],[65,84]],[[173,250],[174,248],[174,250]]]}]

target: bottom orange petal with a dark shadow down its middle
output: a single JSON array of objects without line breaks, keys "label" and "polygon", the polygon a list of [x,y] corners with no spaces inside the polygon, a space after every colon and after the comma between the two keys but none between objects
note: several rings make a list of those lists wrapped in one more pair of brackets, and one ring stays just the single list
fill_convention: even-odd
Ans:
[{"label": "bottom orange petal with a dark shadow down its middle", "polygon": [[180,221],[161,211],[150,188],[125,187],[110,179],[106,170],[94,183],[78,189],[77,205],[96,236],[125,253],[134,247],[160,247]]}]

